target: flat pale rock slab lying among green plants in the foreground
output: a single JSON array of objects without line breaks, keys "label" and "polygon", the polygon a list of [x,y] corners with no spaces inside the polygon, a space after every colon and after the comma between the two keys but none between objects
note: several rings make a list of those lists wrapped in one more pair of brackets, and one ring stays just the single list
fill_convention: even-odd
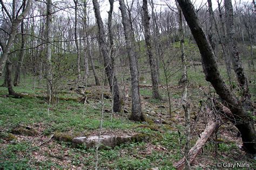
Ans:
[{"label": "flat pale rock slab lying among green plants in the foreground", "polygon": [[117,136],[114,134],[103,134],[100,135],[92,135],[88,137],[76,137],[72,139],[74,144],[85,144],[87,147],[93,147],[99,144],[99,147],[115,147],[124,143],[129,143],[131,141],[142,141],[147,140],[148,137],[134,134],[130,135],[122,135]]}]

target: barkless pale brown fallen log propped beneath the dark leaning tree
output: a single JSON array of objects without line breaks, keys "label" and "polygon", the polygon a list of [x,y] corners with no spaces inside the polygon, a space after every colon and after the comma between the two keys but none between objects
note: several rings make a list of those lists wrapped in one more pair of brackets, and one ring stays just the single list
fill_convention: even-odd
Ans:
[{"label": "barkless pale brown fallen log propped beneath the dark leaning tree", "polygon": [[[188,153],[188,155],[190,155],[191,163],[194,161],[194,159],[200,153],[202,147],[205,145],[208,138],[210,138],[210,136],[214,132],[216,125],[217,125],[217,123],[214,121],[209,122],[206,125],[205,130],[200,134],[200,138],[197,140],[197,143],[190,149],[190,152]],[[183,169],[183,167],[185,166],[185,161],[186,161],[186,158],[183,157],[178,162],[174,163],[173,166],[177,169]]]}]

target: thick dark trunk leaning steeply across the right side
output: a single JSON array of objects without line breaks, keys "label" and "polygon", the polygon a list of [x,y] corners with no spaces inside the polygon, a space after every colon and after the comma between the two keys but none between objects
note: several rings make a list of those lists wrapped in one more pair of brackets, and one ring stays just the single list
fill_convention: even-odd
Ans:
[{"label": "thick dark trunk leaning steeply across the right side", "polygon": [[227,105],[227,107],[231,110],[234,116],[231,121],[240,131],[242,141],[247,152],[256,153],[253,121],[248,116],[248,113],[242,108],[241,101],[239,101],[238,98],[231,93],[230,89],[228,89],[226,86],[223,77],[220,75],[212,47],[205,36],[204,31],[202,30],[202,26],[199,23],[193,4],[187,0],[177,1],[181,10],[183,11],[191,33],[197,42],[201,54],[206,81],[211,82],[216,93],[222,100],[225,101],[224,104]]}]

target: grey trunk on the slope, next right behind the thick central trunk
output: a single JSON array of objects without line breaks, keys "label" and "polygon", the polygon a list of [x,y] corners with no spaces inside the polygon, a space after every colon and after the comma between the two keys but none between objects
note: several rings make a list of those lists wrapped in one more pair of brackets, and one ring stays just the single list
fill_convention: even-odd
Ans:
[{"label": "grey trunk on the slope, next right behind the thick central trunk", "polygon": [[150,72],[151,72],[151,82],[152,82],[152,96],[153,98],[161,99],[158,90],[158,76],[157,76],[157,67],[156,61],[153,58],[152,54],[152,46],[151,46],[151,37],[150,37],[150,16],[149,11],[147,10],[147,0],[143,0],[143,25],[144,25],[144,32],[145,32],[145,42],[147,46],[147,56],[149,56],[149,63],[150,63]]}]

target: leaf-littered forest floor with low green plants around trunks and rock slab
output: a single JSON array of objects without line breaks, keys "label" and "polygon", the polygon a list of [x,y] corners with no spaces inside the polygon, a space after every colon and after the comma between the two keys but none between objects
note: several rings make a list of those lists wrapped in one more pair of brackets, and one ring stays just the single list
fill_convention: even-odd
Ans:
[{"label": "leaf-littered forest floor with low green plants around trunks and rock slab", "polygon": [[[205,112],[202,103],[208,95],[214,94],[204,74],[197,69],[189,68],[190,85],[188,91],[191,101],[191,146],[196,143],[200,132],[205,129],[210,116]],[[196,72],[197,70],[197,72]],[[250,90],[255,100],[255,77],[251,76]],[[129,81],[123,89],[123,112],[111,114],[111,98],[104,98],[102,134],[143,133],[149,139],[141,142],[122,144],[114,148],[98,151],[100,168],[161,168],[172,169],[174,162],[183,157],[184,151],[184,112],[180,104],[181,88],[178,87],[180,75],[175,75],[170,83],[172,115],[168,113],[166,88],[160,88],[163,100],[151,98],[151,88],[140,88],[142,109],[145,122],[129,121],[131,98]],[[140,84],[150,84],[150,76],[145,75]],[[0,80],[0,84],[3,80]],[[42,83],[43,84],[43,83]],[[36,86],[34,86],[36,85]],[[40,96],[45,96],[45,86],[34,83],[31,76],[21,79],[21,84],[14,88],[18,93],[29,94],[28,97],[8,97],[7,88],[0,87],[0,168],[94,168],[96,166],[96,148],[85,145],[75,147],[73,137],[99,134],[101,119],[100,94],[102,87],[86,87],[90,97],[88,103],[71,100],[83,97],[72,90],[62,91],[56,104],[50,105]],[[122,89],[122,88],[120,88]],[[120,90],[122,91],[122,90]],[[209,93],[210,91],[210,93]],[[121,92],[122,93],[122,92]],[[110,96],[109,88],[104,87],[105,96]],[[48,111],[49,109],[49,111]],[[13,129],[26,126],[36,130],[36,134],[27,136],[14,134]],[[61,136],[57,138],[56,136]],[[217,163],[241,163],[256,167],[255,155],[247,154],[241,149],[241,139],[231,123],[222,125],[215,136],[203,147],[203,151],[193,162],[193,168],[217,168]],[[217,145],[215,145],[217,143]],[[215,146],[218,154],[215,154]]]}]

